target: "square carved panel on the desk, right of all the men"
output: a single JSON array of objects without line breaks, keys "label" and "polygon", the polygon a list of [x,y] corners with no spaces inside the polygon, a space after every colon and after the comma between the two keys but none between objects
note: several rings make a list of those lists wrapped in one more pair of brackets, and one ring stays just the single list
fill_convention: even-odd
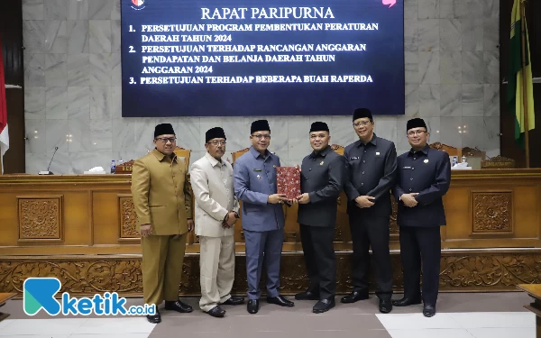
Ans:
[{"label": "square carved panel on the desk, right of all the men", "polygon": [[512,232],[511,192],[472,192],[472,233]]}]

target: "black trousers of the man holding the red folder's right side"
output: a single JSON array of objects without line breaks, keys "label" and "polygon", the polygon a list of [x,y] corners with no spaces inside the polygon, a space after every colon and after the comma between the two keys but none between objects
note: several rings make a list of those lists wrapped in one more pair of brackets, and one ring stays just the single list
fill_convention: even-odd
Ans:
[{"label": "black trousers of the man holding the red folder's right side", "polygon": [[334,226],[300,224],[300,242],[310,279],[308,290],[319,295],[319,299],[335,297],[336,294],[334,238]]}]

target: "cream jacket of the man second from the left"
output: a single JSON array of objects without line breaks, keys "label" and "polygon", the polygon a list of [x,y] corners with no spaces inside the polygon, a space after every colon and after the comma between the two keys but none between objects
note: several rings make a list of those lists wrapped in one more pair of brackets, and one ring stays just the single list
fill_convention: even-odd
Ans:
[{"label": "cream jacket of the man second from the left", "polygon": [[223,237],[234,235],[234,226],[222,227],[225,215],[239,212],[239,202],[234,196],[233,167],[229,162],[218,162],[206,152],[190,171],[196,200],[197,236]]}]

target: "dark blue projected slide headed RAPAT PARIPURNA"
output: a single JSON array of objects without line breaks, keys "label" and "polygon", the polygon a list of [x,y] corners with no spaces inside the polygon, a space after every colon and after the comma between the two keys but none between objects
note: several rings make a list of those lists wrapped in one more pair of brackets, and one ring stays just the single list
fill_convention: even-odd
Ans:
[{"label": "dark blue projected slide headed RAPAT PARIPURNA", "polygon": [[403,0],[122,0],[124,117],[404,114]]}]

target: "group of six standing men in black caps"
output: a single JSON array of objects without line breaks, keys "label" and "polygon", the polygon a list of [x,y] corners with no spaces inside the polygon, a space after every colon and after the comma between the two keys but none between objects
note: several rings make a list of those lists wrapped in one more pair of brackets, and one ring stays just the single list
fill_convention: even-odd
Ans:
[{"label": "group of six standing men in black caps", "polygon": [[[304,251],[309,288],[295,296],[316,300],[314,313],[335,306],[335,221],[337,198],[344,190],[353,240],[353,291],[343,303],[368,299],[371,248],[381,313],[392,306],[424,302],[423,314],[436,314],[439,285],[440,233],[445,225],[442,197],[450,183],[449,156],[428,147],[429,133],[422,119],[408,121],[411,150],[397,157],[393,142],[373,132],[368,109],[353,112],[353,128],[359,137],[348,145],[344,156],[331,149],[326,123],[311,124],[308,132],[313,151],[298,168],[301,195],[288,199],[277,194],[276,168],[280,158],[268,150],[271,128],[266,120],[252,123],[252,146],[232,166],[223,160],[226,137],[222,128],[206,132],[206,154],[190,172],[174,149],[176,135],[168,123],[154,132],[156,148],[133,166],[133,203],[142,234],[142,281],[145,304],[160,305],[181,313],[193,311],[179,300],[179,284],[187,233],[194,228],[200,240],[199,307],[208,315],[223,317],[224,306],[244,303],[231,296],[234,283],[234,224],[243,216],[248,281],[247,311],[260,308],[259,282],[263,265],[267,273],[267,302],[294,306],[280,296],[280,260],[284,241],[283,205],[298,204],[298,224]],[[417,170],[416,170],[417,169]],[[404,268],[404,297],[391,301],[390,195],[399,204],[401,260]],[[243,202],[240,210],[239,201]],[[423,264],[422,297],[420,288]],[[160,323],[160,312],[147,315]]]}]

